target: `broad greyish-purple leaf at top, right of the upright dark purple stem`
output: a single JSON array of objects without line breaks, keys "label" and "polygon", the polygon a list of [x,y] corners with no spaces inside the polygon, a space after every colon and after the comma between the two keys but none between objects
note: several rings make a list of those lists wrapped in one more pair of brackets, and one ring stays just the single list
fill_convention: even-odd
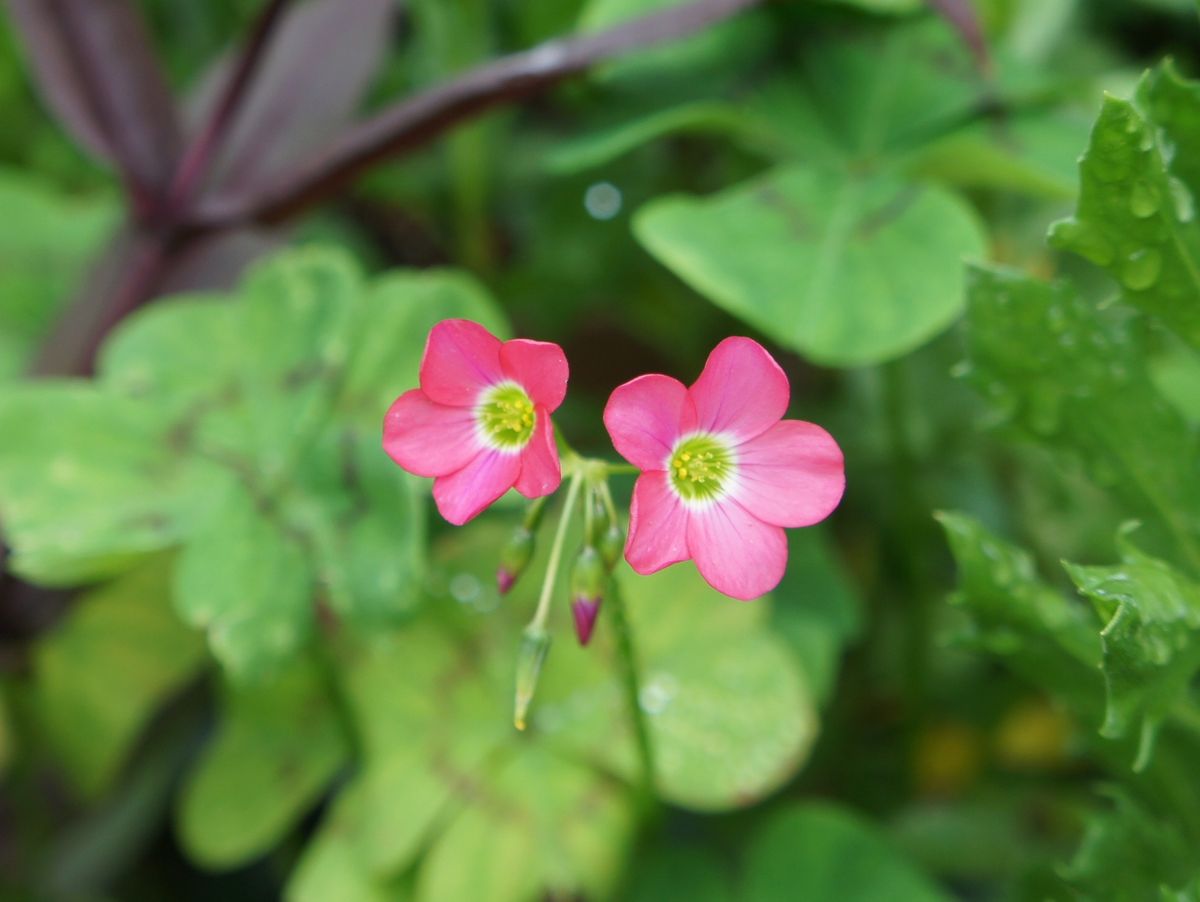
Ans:
[{"label": "broad greyish-purple leaf at top, right of the upright dark purple stem", "polygon": [[[264,48],[217,151],[208,193],[242,194],[328,143],[350,121],[388,47],[397,0],[311,0]],[[203,126],[233,77],[233,56],[203,79],[190,120]]]}]

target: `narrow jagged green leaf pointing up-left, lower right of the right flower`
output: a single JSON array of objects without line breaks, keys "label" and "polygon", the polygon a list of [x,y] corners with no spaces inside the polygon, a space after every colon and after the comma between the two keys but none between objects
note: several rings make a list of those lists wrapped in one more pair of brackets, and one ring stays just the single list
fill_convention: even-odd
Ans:
[{"label": "narrow jagged green leaf pointing up-left, lower right of the right flower", "polygon": [[962,638],[1098,723],[1100,638],[1090,613],[1042,582],[1026,552],[977,521],[960,513],[937,519],[959,569],[952,601],[971,618],[972,632]]}]

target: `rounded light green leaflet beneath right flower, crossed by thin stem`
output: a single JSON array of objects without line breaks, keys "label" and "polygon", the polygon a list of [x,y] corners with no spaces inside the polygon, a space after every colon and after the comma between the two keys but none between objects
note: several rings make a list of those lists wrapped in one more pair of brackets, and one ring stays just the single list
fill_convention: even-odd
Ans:
[{"label": "rounded light green leaflet beneath right flower, crossed by thin stem", "polygon": [[[619,578],[660,794],[684,807],[722,810],[782,784],[808,757],[817,724],[803,672],[766,627],[769,602],[733,603],[691,565],[650,577],[623,567]],[[534,724],[636,781],[611,625],[601,615],[587,649],[563,639],[546,665]]]}]

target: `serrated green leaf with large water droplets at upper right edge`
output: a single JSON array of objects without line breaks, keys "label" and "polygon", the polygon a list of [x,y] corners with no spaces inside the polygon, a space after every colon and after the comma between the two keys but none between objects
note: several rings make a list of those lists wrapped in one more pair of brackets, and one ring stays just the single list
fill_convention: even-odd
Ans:
[{"label": "serrated green leaf with large water droplets at upper right edge", "polygon": [[1200,347],[1200,88],[1169,66],[1135,102],[1106,97],[1080,161],[1074,217],[1051,242],[1103,266],[1129,303]]}]

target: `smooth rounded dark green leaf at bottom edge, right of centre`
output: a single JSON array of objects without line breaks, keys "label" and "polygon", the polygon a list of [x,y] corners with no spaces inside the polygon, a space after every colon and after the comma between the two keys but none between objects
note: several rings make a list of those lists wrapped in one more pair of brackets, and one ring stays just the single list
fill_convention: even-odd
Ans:
[{"label": "smooth rounded dark green leaf at bottom edge, right of centre", "polygon": [[748,902],[944,902],[944,892],[865,820],[833,805],[774,813],[750,843],[742,898]]}]

